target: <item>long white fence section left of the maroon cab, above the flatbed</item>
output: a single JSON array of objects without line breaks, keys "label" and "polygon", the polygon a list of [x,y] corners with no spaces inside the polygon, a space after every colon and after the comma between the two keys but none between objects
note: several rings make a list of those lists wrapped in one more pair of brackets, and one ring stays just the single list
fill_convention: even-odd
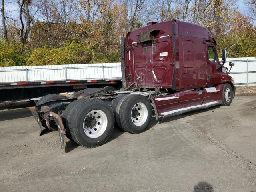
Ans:
[{"label": "long white fence section left of the maroon cab, above the flatbed", "polygon": [[0,82],[121,78],[120,63],[0,67]]}]

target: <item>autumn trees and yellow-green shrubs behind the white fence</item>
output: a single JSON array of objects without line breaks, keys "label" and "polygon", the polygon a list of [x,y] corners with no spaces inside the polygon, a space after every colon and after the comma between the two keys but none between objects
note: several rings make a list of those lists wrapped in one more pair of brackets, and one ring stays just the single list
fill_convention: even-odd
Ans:
[{"label": "autumn trees and yellow-green shrubs behind the white fence", "polygon": [[256,56],[256,3],[245,3],[247,16],[235,0],[2,0],[0,66],[120,62],[122,36],[172,19],[208,28],[218,53]]}]

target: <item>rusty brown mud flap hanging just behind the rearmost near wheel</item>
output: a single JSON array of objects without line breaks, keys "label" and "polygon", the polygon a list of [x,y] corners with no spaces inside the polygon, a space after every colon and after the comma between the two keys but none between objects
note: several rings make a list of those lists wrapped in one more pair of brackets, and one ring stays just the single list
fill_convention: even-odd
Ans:
[{"label": "rusty brown mud flap hanging just behind the rearmost near wheel", "polygon": [[60,115],[58,115],[52,111],[49,112],[49,115],[54,117],[54,122],[57,124],[58,133],[59,133],[59,137],[60,137],[61,151],[62,151],[62,153],[65,153],[65,148],[66,148],[66,142],[64,141],[65,128],[64,128],[64,125],[62,122],[62,118]]}]

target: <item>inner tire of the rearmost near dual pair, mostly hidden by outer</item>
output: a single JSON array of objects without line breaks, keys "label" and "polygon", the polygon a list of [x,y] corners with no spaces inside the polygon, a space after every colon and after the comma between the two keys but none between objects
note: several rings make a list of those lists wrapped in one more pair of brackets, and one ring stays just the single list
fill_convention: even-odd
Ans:
[{"label": "inner tire of the rearmost near dual pair, mostly hidden by outer", "polygon": [[[86,98],[81,98],[79,100],[88,100]],[[65,126],[65,130],[66,130],[66,137],[69,138],[70,140],[72,140],[73,142],[74,139],[72,138],[71,136],[71,133],[70,133],[70,128],[68,127],[68,122],[69,122],[69,118],[70,118],[70,115],[72,114],[72,111],[74,110],[74,107],[77,105],[76,103],[78,102],[78,100],[75,100],[73,102],[71,102],[67,107],[66,109],[64,110],[64,112],[62,113],[62,121],[63,121],[63,124]]]}]

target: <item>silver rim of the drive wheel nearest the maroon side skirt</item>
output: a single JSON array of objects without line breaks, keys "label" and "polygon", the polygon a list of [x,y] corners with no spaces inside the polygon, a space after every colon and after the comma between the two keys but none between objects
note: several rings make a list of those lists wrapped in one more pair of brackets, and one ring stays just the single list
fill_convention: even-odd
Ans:
[{"label": "silver rim of the drive wheel nearest the maroon side skirt", "polygon": [[142,126],[148,118],[148,109],[144,103],[136,103],[131,112],[132,123],[136,126]]}]

